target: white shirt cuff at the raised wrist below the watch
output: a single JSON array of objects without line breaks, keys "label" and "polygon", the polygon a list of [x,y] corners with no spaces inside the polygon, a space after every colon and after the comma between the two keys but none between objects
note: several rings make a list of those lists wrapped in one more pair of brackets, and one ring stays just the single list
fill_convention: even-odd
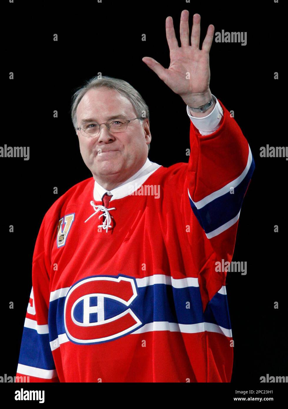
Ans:
[{"label": "white shirt cuff at the raised wrist below the watch", "polygon": [[214,101],[216,101],[216,104],[206,117],[193,117],[190,113],[189,106],[187,105],[187,114],[201,135],[209,135],[210,133],[215,132],[219,128],[220,121],[223,117],[223,109],[220,106],[218,99],[213,94],[212,97],[214,98]]}]

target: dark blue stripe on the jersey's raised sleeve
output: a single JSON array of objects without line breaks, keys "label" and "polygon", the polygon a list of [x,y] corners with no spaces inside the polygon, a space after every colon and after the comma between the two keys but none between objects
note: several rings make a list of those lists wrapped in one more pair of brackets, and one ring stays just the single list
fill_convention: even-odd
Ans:
[{"label": "dark blue stripe on the jersey's raised sleeve", "polygon": [[[206,234],[218,229],[218,227],[224,225],[225,223],[229,222],[229,220],[232,220],[235,216],[237,216],[241,210],[243,198],[254,169],[255,162],[254,158],[252,157],[249,171],[242,182],[239,183],[238,186],[234,187],[234,194],[227,192],[219,198],[207,203],[207,205],[203,206],[201,209],[197,209],[193,201],[189,198],[193,213],[195,214],[202,229],[205,230]],[[232,184],[231,187],[233,187]]]}]

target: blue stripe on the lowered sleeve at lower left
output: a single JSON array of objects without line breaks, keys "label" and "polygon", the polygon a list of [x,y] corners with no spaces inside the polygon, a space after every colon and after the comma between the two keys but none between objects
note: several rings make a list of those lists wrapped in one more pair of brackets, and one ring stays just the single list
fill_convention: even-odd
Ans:
[{"label": "blue stripe on the lowered sleeve at lower left", "polygon": [[38,334],[32,328],[23,328],[19,364],[40,369],[55,369],[49,334]]}]

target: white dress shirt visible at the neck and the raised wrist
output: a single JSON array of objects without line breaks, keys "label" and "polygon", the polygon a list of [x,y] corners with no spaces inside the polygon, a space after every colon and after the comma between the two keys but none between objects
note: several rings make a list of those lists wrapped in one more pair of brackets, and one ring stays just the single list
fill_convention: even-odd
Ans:
[{"label": "white dress shirt visible at the neck and the raised wrist", "polygon": [[[214,95],[212,94],[212,97]],[[207,115],[206,117],[196,118],[190,114],[189,107],[187,105],[187,114],[191,119],[193,125],[199,130],[201,135],[209,135],[209,133],[213,133],[216,131],[220,126],[221,118],[223,117],[223,109],[220,106],[217,98],[214,97],[216,104],[214,105],[213,110]],[[113,199],[120,199],[128,194],[131,194],[132,191],[137,190],[142,183],[152,174],[156,169],[160,168],[161,165],[151,162],[148,157],[144,165],[142,166],[139,171],[137,171],[131,178],[125,180],[125,182],[121,183],[119,186],[115,187],[110,191],[104,189],[98,182],[94,182],[94,191],[93,196],[94,200],[102,200],[105,193],[108,196],[113,196]],[[112,200],[112,198],[111,198]]]}]

